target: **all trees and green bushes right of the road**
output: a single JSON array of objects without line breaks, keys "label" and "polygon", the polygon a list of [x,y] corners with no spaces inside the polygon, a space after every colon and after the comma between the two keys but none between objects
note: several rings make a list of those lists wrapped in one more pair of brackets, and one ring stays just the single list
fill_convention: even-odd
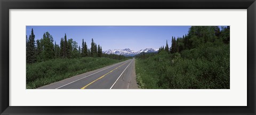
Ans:
[{"label": "all trees and green bushes right of the road", "polygon": [[156,55],[138,56],[137,82],[142,89],[229,89],[229,26],[191,26]]}]

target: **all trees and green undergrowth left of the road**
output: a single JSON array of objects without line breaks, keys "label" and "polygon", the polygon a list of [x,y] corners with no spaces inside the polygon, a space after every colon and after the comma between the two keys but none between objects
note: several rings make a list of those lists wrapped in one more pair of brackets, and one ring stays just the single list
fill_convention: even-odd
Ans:
[{"label": "all trees and green undergrowth left of the road", "polygon": [[42,39],[35,40],[33,29],[26,36],[26,88],[36,89],[62,79],[115,64],[129,58],[122,55],[103,54],[102,47],[92,39],[87,47],[82,39],[82,47],[65,34],[60,45],[54,42],[49,32]]}]

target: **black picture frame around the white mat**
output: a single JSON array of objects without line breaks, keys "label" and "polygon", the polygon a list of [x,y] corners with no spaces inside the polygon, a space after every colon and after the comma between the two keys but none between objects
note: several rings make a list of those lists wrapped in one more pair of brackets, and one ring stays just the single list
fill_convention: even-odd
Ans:
[{"label": "black picture frame around the white mat", "polygon": [[[255,0],[0,0],[1,114],[255,114]],[[247,9],[245,107],[13,107],[9,106],[10,9]],[[241,38],[241,40],[243,40]],[[22,97],[21,97],[22,99]],[[234,100],[235,101],[235,100]]]}]

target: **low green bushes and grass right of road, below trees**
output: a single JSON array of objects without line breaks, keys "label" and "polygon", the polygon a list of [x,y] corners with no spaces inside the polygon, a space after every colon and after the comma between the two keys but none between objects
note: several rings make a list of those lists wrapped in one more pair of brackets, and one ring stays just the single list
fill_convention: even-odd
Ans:
[{"label": "low green bushes and grass right of road, below trees", "polygon": [[229,89],[229,56],[222,45],[137,58],[137,82],[141,89]]}]

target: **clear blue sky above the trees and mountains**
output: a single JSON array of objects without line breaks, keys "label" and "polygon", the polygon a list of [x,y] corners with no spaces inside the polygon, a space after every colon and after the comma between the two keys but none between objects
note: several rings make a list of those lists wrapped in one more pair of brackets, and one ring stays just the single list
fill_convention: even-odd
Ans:
[{"label": "clear blue sky above the trees and mountains", "polygon": [[102,50],[130,48],[138,51],[145,48],[158,49],[165,46],[166,40],[170,47],[172,36],[182,37],[188,33],[190,26],[26,26],[28,37],[32,28],[36,40],[49,32],[59,44],[60,38],[66,33],[67,38],[75,40],[78,46],[82,46],[82,39],[89,46],[93,38]]}]

